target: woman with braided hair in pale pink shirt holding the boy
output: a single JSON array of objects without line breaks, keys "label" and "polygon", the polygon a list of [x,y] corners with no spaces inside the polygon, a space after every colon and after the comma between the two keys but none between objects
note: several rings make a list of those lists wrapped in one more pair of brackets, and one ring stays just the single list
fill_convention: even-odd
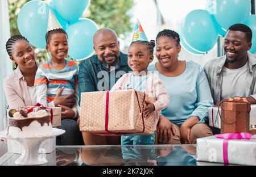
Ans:
[{"label": "woman with braided hair in pale pink shirt holding the boy", "polygon": [[[9,109],[32,106],[36,103],[34,81],[38,69],[34,49],[25,37],[15,35],[7,41],[6,50],[10,59],[15,62],[15,70],[4,81]],[[61,112],[61,126],[58,128],[65,129],[66,133],[57,138],[57,145],[82,145],[79,125],[73,119],[66,119],[72,111],[69,107],[75,103],[71,98],[73,95],[61,96],[62,91],[53,100],[55,105],[60,104],[65,108]]]}]

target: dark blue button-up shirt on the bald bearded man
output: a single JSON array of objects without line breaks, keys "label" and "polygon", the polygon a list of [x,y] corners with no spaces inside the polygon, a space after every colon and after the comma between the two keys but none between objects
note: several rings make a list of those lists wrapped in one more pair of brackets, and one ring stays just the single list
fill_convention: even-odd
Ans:
[{"label": "dark blue button-up shirt on the bald bearded man", "polygon": [[82,61],[79,68],[79,100],[81,92],[111,90],[115,82],[129,71],[127,54],[122,52],[117,64],[110,70],[106,69],[96,54]]}]

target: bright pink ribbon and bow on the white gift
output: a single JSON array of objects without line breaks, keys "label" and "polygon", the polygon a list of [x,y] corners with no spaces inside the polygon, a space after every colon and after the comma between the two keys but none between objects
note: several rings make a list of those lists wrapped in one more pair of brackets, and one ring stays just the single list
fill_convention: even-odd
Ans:
[{"label": "bright pink ribbon and bow on the white gift", "polygon": [[216,134],[216,138],[224,139],[223,141],[223,162],[224,164],[229,164],[229,158],[228,158],[228,141],[229,140],[251,140],[256,138],[251,138],[253,136],[251,133],[224,133],[224,134]]}]

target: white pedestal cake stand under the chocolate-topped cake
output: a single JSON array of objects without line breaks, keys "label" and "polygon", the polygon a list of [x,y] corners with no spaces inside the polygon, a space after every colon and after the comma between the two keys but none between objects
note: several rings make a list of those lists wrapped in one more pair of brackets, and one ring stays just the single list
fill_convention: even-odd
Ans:
[{"label": "white pedestal cake stand under the chocolate-topped cake", "polygon": [[6,134],[6,130],[0,132],[0,137],[16,140],[20,142],[20,144],[24,147],[22,154],[18,159],[16,159],[15,164],[17,165],[43,165],[48,163],[47,159],[44,155],[39,154],[39,146],[42,141],[60,136],[61,134],[65,133],[63,129],[52,128],[53,133],[47,136],[31,136],[31,137],[12,137]]}]

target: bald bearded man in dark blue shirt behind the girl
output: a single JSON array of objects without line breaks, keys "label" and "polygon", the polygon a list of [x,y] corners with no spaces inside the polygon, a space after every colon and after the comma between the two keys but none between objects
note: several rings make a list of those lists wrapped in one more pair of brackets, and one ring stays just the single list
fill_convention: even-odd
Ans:
[{"label": "bald bearded man in dark blue shirt behind the girl", "polygon": [[[127,54],[119,51],[117,34],[110,28],[101,28],[93,36],[96,54],[84,60],[79,68],[79,100],[81,92],[110,90],[115,82],[131,69]],[[82,132],[85,145],[118,145],[119,136],[99,136]]]}]

